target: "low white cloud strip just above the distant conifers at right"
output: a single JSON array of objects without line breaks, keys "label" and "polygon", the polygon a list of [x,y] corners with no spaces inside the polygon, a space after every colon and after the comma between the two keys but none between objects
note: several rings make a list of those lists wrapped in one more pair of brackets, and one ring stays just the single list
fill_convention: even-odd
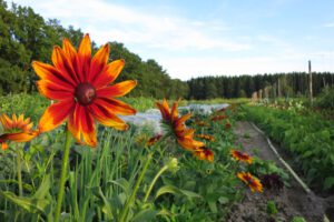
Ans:
[{"label": "low white cloud strip just above the distant conifers at right", "polygon": [[[321,53],[321,52],[320,52]],[[324,53],[324,52],[323,52]],[[322,54],[323,54],[322,53]],[[334,52],[326,52],[332,54]],[[263,74],[292,71],[307,71],[307,61],[312,60],[314,71],[330,71],[333,65],[322,58],[318,53],[295,53],[281,57],[246,57],[238,59],[220,58],[166,58],[161,59],[167,71],[174,73],[174,78],[188,80],[190,78],[204,75],[235,75],[235,74]]]}]

